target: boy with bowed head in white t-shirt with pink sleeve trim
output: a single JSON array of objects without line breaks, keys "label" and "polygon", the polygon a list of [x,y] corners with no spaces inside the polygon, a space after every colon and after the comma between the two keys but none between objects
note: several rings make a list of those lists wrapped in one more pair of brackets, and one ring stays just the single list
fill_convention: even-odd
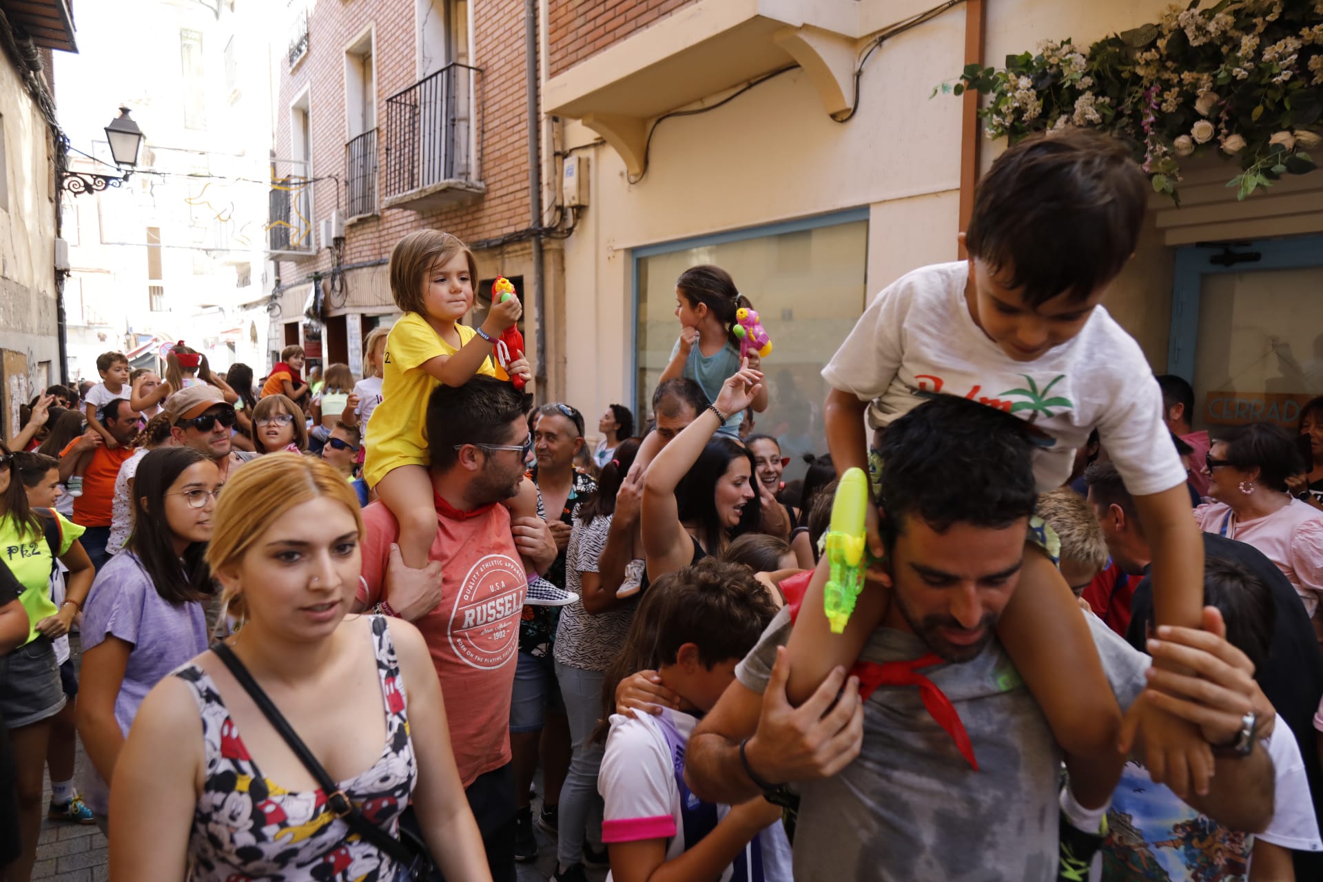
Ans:
[{"label": "boy with bowed head in white t-shirt with pink sleeve trim", "polygon": [[[643,596],[607,681],[655,669],[681,705],[655,717],[609,719],[597,779],[609,881],[643,882],[665,867],[680,879],[791,882],[779,808],[761,796],[740,805],[704,803],[684,782],[697,715],[717,703],[775,614],[747,567],[716,558],[659,578]],[[573,878],[570,867],[557,867],[553,878]]]}]

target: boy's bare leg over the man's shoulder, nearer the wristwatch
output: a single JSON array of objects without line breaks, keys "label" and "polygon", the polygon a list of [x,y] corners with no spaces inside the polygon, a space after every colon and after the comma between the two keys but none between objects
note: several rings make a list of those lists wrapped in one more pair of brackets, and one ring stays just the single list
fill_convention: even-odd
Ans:
[{"label": "boy's bare leg over the man's shoulder, nearer the wristwatch", "polygon": [[1125,764],[1121,707],[1070,586],[1033,545],[996,632],[1066,752],[1076,799],[1106,805]]}]

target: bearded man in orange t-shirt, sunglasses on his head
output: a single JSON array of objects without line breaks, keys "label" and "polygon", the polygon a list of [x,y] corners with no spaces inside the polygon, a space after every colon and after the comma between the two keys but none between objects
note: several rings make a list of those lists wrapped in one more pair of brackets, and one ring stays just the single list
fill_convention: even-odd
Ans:
[{"label": "bearded man in orange t-shirt, sunglasses on his head", "polygon": [[89,430],[60,451],[60,480],[66,481],[78,464],[78,454],[91,451],[83,471],[82,496],[74,499],[74,524],[87,528],[79,540],[91,565],[98,570],[110,558],[106,542],[110,540],[111,502],[115,499],[115,479],[119,467],[134,455],[134,438],[142,431],[143,415],[128,406],[124,398],[110,401],[99,414],[118,447],[107,447],[102,436]]}]

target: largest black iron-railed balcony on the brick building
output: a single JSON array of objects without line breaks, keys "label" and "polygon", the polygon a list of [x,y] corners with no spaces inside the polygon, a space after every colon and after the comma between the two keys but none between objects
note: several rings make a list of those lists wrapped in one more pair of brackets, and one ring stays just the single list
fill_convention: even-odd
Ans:
[{"label": "largest black iron-railed balcony on the brick building", "polygon": [[447,65],[386,99],[385,208],[430,212],[487,190],[475,159],[480,77],[476,67]]}]

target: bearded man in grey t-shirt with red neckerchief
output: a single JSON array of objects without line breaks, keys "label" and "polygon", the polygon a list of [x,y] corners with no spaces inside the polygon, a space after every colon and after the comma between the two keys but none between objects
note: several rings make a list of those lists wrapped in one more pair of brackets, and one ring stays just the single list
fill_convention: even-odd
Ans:
[{"label": "bearded man in grey t-shirt with red neckerchief", "polygon": [[[1013,418],[946,397],[893,422],[881,452],[890,596],[852,676],[833,673],[789,705],[781,647],[804,586],[782,582],[790,604],[695,730],[685,778],[700,799],[728,804],[794,782],[795,878],[1054,879],[1061,754],[995,637],[1033,513],[1031,444]],[[804,603],[822,603],[824,565]],[[1147,659],[1089,620],[1122,709],[1152,700]],[[1218,726],[1205,738],[1230,742],[1244,710],[1229,734],[1224,707],[1212,710]],[[1245,746],[1242,758],[1218,756],[1209,793],[1187,801],[1262,829],[1271,759],[1253,733]]]}]

